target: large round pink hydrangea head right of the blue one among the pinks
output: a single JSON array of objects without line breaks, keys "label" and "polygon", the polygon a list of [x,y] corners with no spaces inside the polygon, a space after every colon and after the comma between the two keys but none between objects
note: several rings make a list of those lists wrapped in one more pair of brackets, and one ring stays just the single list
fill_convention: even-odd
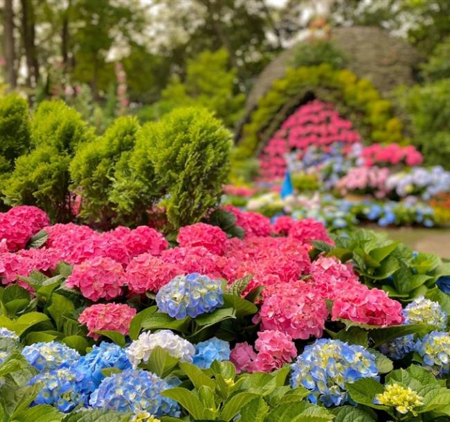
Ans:
[{"label": "large round pink hydrangea head right of the blue one among the pinks", "polygon": [[328,317],[327,306],[314,286],[297,281],[296,286],[279,285],[264,299],[253,322],[261,322],[262,330],[278,330],[294,339],[322,337]]}]

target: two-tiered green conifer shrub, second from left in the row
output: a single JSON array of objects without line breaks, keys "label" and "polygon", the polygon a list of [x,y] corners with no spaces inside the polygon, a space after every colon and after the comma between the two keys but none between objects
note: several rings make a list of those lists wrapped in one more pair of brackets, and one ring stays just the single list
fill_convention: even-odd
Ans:
[{"label": "two-tiered green conifer shrub, second from left in the row", "polygon": [[71,219],[69,165],[76,146],[93,139],[93,130],[78,112],[62,102],[39,105],[31,125],[35,149],[16,161],[3,182],[6,204],[35,205],[55,221]]}]

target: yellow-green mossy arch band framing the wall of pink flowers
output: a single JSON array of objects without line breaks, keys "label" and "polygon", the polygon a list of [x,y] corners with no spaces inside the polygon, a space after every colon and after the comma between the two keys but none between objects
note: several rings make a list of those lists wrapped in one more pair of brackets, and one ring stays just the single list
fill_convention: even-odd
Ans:
[{"label": "yellow-green mossy arch band framing the wall of pink flowers", "polygon": [[382,98],[370,80],[358,79],[348,69],[321,64],[287,69],[284,78],[273,82],[244,124],[235,157],[258,154],[285,118],[311,96],[333,103],[341,116],[352,121],[365,143],[408,143],[390,101]]}]

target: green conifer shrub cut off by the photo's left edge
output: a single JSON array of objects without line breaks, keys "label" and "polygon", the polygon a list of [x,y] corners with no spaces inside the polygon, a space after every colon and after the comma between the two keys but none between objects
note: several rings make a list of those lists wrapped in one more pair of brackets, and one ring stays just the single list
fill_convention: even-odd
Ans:
[{"label": "green conifer shrub cut off by the photo's left edge", "polygon": [[30,119],[24,98],[0,98],[0,178],[14,168],[14,161],[30,146]]}]

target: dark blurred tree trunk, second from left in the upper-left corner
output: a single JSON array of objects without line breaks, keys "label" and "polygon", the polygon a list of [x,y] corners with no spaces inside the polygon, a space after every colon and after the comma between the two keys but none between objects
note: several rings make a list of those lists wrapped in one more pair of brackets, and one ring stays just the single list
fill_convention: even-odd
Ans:
[{"label": "dark blurred tree trunk, second from left in the upper-left corner", "polygon": [[22,37],[24,40],[26,67],[28,68],[28,87],[37,85],[39,80],[39,63],[37,62],[35,46],[35,11],[33,0],[21,0],[22,6]]}]

